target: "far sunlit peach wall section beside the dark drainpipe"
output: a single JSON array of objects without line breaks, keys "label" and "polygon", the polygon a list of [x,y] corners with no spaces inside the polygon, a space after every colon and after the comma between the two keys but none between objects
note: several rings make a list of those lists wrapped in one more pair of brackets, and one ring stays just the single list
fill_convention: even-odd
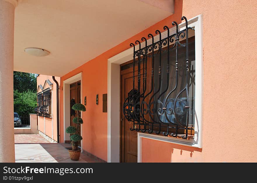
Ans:
[{"label": "far sunlit peach wall section beside the dark drainpipe", "polygon": [[[46,75],[42,75],[40,74],[37,77],[37,86],[38,85],[42,85],[44,87],[44,83],[46,81],[46,79],[49,79],[51,81],[51,83],[53,83],[53,97],[52,97],[52,101],[53,101],[53,114],[52,114],[52,118],[53,118],[53,140],[57,141],[57,121],[56,121],[56,84],[53,81],[52,76],[46,76]],[[60,77],[55,77],[55,79],[58,81],[59,85],[60,85]],[[46,83],[46,87],[48,88],[50,87],[47,83]],[[44,88],[44,89],[45,89]],[[42,91],[41,89],[38,90],[38,92]],[[42,133],[45,133],[48,137],[52,138],[52,118],[45,118],[45,123],[44,123],[44,117],[38,116],[38,126],[39,126],[39,131],[41,131]]]}]

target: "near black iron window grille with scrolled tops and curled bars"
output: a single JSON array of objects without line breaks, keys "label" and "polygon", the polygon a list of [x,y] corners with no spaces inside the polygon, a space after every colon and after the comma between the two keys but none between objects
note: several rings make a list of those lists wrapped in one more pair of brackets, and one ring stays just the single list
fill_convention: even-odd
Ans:
[{"label": "near black iron window grille with scrolled tops and curled bars", "polygon": [[[176,33],[169,35],[169,27],[164,26],[163,29],[167,30],[168,36],[164,39],[162,39],[161,32],[159,30],[155,31],[155,34],[159,34],[159,41],[156,41],[154,43],[154,36],[152,34],[148,34],[148,38],[152,38],[152,44],[147,45],[147,39],[145,37],[141,38],[141,41],[145,41],[145,47],[141,48],[140,41],[136,41],[136,44],[139,44],[139,50],[135,51],[135,45],[133,43],[130,44],[130,46],[133,46],[133,92],[131,95],[129,95],[123,105],[123,113],[125,115],[125,118],[129,121],[133,121],[133,128],[131,130],[136,130],[141,132],[153,133],[153,129],[155,127],[159,127],[155,131],[156,134],[159,134],[161,132],[161,125],[166,127],[166,130],[162,133],[164,136],[172,136],[177,137],[178,135],[178,126],[181,128],[181,126],[185,127],[186,134],[182,136],[183,139],[186,139],[188,136],[188,116],[189,116],[189,104],[188,104],[188,88],[189,88],[189,82],[188,82],[188,72],[185,72],[187,74],[187,83],[185,87],[176,95],[175,99],[171,98],[171,94],[177,90],[178,86],[178,70],[180,69],[186,69],[189,71],[189,60],[188,60],[188,29],[192,29],[191,27],[188,27],[187,19],[183,16],[181,20],[185,20],[186,28],[184,30],[178,31],[178,24],[174,21],[172,22],[172,25],[176,25]],[[180,40],[186,39],[186,43],[181,43]],[[170,46],[170,44],[173,44],[173,46]],[[168,47],[168,49],[164,49],[164,47]],[[185,68],[179,68],[178,67],[178,46],[186,47],[186,67]],[[168,52],[172,49],[176,49],[176,64],[175,64],[175,73],[176,73],[176,86],[172,90],[168,90],[169,87],[169,58],[167,61],[167,84],[166,88],[164,90],[160,90],[160,87],[154,85],[154,57],[158,54],[160,54],[160,64],[159,64],[159,75],[156,76],[159,77],[159,83],[161,84],[161,74],[164,72],[162,70],[161,65],[161,54],[162,52]],[[150,70],[150,86],[146,85],[146,78],[147,78],[147,69],[146,69],[146,63],[147,63],[147,57],[152,58],[152,69]],[[138,90],[135,91],[135,62],[138,64]],[[143,74],[140,73],[140,65],[143,63]],[[158,71],[156,71],[158,72]],[[140,91],[140,83],[143,81],[143,92]],[[191,83],[190,83],[191,84]],[[153,90],[153,86],[157,87],[157,91]],[[184,85],[183,85],[184,86]],[[149,87],[149,88],[147,88]],[[165,83],[162,82],[162,87],[165,87]],[[150,91],[147,93],[147,89]],[[141,89],[142,90],[142,89]],[[161,91],[159,94],[159,91]],[[181,98],[179,98],[179,95],[186,91],[187,99],[186,101]],[[164,93],[167,93],[168,95]],[[141,93],[141,94],[140,94]],[[158,96],[159,95],[159,96]],[[158,96],[158,97],[157,97]],[[146,102],[146,98],[150,97],[150,100]],[[164,99],[162,100],[162,97]],[[142,99],[142,100],[140,100]],[[131,107],[133,106],[133,107]],[[127,109],[128,108],[128,109]],[[164,115],[164,116],[162,116]],[[175,119],[173,119],[173,116]],[[149,119],[146,119],[146,117],[149,117]],[[155,121],[157,118],[158,120]],[[181,116],[183,118],[181,118]],[[172,118],[171,118],[172,117]],[[186,119],[184,119],[186,118]],[[139,126],[139,128],[135,129],[135,124]],[[142,129],[141,126],[143,126]],[[169,129],[175,128],[176,132],[169,134]]]}]

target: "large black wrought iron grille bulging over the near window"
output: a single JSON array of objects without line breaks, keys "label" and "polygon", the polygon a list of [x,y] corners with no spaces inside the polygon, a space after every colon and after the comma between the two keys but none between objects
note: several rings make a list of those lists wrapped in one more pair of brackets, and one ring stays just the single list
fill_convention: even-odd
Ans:
[{"label": "large black wrought iron grille bulging over the near window", "polygon": [[[148,34],[148,38],[152,39],[151,44],[147,44],[145,37],[141,38],[141,41],[145,41],[145,47],[141,48],[139,40],[131,43],[133,47],[133,89],[128,93],[128,97],[122,107],[123,114],[128,121],[133,122],[133,126],[130,128],[131,131],[141,131],[143,133],[155,133],[162,134],[164,136],[180,137],[182,139],[193,138],[192,130],[193,125],[189,125],[189,111],[191,107],[191,116],[193,116],[193,97],[191,97],[192,104],[189,104],[189,87],[194,82],[194,76],[190,73],[193,72],[194,66],[189,62],[189,42],[188,42],[188,31],[195,30],[192,27],[188,27],[187,18],[183,16],[181,20],[185,20],[185,29],[178,31],[178,23],[173,21],[172,25],[176,25],[176,33],[170,35],[169,27],[164,26],[163,29],[167,30],[167,37],[162,39],[161,32],[155,31],[155,34],[159,34],[159,41],[154,42],[154,36]],[[181,39],[185,40],[185,43],[181,43]],[[139,49],[135,50],[135,45],[139,45]],[[179,47],[185,47],[185,67],[179,68],[178,54]],[[166,49],[164,49],[166,47]],[[170,63],[170,53],[172,50],[176,50],[175,64]],[[162,53],[167,54],[167,60],[162,61]],[[154,58],[159,57],[159,63],[154,63]],[[152,63],[150,73],[150,86],[147,86],[147,58],[151,58]],[[192,61],[192,60],[191,60]],[[158,64],[159,67],[154,67]],[[166,66],[165,66],[165,65]],[[171,65],[175,67],[176,84],[171,88],[169,79],[171,75]],[[143,68],[140,68],[143,66]],[[137,73],[135,72],[137,67]],[[148,66],[149,67],[149,66]],[[162,69],[165,67],[166,69]],[[143,73],[140,71],[143,70]],[[179,71],[185,73],[185,83],[178,83]],[[162,73],[164,72],[164,73]],[[166,72],[166,73],[165,73]],[[165,80],[161,78],[161,74],[165,74]],[[138,76],[135,81],[136,75]],[[155,76],[154,76],[155,75]],[[156,76],[158,75],[158,76]],[[190,81],[191,80],[191,81]],[[137,88],[135,87],[137,83]],[[178,87],[180,85],[180,89]],[[164,90],[161,91],[161,86]],[[140,89],[141,87],[141,89]],[[149,92],[147,92],[147,89]],[[142,92],[140,92],[142,91]],[[171,96],[175,97],[171,97]],[[184,97],[183,97],[184,96]],[[161,99],[162,98],[162,99]],[[191,105],[191,106],[190,106]],[[136,126],[137,125],[137,126]],[[188,131],[191,131],[189,133]],[[178,131],[183,131],[179,134]]]}]

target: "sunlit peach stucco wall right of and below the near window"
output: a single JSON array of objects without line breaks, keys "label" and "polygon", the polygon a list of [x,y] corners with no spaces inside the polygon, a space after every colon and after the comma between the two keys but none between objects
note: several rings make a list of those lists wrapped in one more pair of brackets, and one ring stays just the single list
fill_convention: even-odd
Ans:
[{"label": "sunlit peach stucco wall right of and below the near window", "polygon": [[257,162],[257,2],[183,1],[184,16],[199,14],[204,52],[202,152],[143,139],[142,161]]}]

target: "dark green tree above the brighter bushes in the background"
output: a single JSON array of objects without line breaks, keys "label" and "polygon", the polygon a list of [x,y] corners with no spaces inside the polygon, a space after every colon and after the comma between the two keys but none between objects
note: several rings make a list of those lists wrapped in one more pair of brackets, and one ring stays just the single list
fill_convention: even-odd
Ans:
[{"label": "dark green tree above the brighter bushes in the background", "polygon": [[14,71],[13,90],[18,90],[20,93],[27,90],[37,92],[37,78],[35,74]]}]

